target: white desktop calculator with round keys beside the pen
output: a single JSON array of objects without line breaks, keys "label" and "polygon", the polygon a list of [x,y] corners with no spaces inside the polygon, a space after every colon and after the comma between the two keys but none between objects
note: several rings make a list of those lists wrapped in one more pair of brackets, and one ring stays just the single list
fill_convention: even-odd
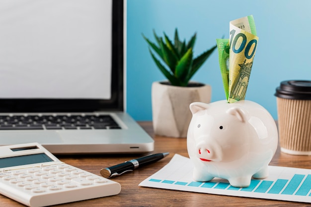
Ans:
[{"label": "white desktop calculator with round keys beside the pen", "polygon": [[29,207],[117,195],[119,183],[68,165],[38,143],[0,146],[0,193]]}]

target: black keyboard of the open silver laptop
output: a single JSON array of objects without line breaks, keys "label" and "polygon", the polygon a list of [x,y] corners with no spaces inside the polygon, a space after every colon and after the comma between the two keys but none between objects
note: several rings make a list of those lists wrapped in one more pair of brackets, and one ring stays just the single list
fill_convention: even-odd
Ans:
[{"label": "black keyboard of the open silver laptop", "polygon": [[0,116],[0,130],[121,129],[110,115]]}]

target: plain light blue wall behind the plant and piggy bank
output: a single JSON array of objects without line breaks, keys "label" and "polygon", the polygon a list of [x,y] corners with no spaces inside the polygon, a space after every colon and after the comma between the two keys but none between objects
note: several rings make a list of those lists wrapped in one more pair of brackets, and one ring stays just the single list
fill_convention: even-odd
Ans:
[{"label": "plain light blue wall behind the plant and piggy bank", "polygon": [[[276,87],[282,80],[311,79],[310,0],[128,0],[127,112],[137,121],[152,120],[151,85],[165,77],[156,68],[142,33],[186,39],[197,32],[194,56],[229,38],[231,20],[253,14],[259,37],[246,92],[247,100],[277,119]],[[226,99],[218,52],[192,78],[212,86],[212,101]]]}]

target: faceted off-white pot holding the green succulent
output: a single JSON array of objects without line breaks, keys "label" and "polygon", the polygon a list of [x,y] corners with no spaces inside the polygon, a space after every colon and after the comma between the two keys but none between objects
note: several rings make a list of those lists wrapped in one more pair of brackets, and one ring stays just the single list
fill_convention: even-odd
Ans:
[{"label": "faceted off-white pot holding the green succulent", "polygon": [[[167,83],[167,82],[166,82]],[[156,135],[185,138],[192,117],[192,102],[210,103],[211,86],[191,82],[197,87],[179,87],[163,82],[152,84],[153,127]]]}]

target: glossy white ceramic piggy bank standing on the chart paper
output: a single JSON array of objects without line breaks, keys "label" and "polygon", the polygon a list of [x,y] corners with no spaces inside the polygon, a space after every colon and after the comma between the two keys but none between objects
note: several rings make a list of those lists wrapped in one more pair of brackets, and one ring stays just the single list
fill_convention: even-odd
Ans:
[{"label": "glossy white ceramic piggy bank standing on the chart paper", "polygon": [[269,112],[252,101],[190,104],[193,114],[187,149],[194,163],[193,179],[224,178],[234,187],[248,187],[251,177],[268,176],[278,131]]}]

